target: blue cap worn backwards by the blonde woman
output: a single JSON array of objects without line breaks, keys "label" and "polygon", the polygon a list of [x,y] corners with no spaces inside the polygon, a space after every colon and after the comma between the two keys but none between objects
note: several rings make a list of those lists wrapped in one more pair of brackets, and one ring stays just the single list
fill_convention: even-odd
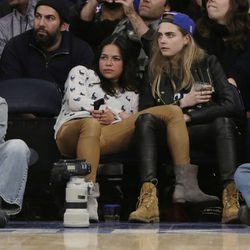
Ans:
[{"label": "blue cap worn backwards by the blonde woman", "polygon": [[173,23],[191,35],[195,28],[195,22],[188,15],[180,12],[164,12],[161,22]]}]

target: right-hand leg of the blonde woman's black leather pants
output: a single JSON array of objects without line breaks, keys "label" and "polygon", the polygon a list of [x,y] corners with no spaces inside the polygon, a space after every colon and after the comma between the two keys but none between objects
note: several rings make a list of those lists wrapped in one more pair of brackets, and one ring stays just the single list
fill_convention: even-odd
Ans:
[{"label": "right-hand leg of the blonde woman's black leather pants", "polygon": [[219,117],[208,124],[188,125],[191,150],[208,150],[217,156],[223,185],[232,181],[237,168],[237,127],[232,119]]}]

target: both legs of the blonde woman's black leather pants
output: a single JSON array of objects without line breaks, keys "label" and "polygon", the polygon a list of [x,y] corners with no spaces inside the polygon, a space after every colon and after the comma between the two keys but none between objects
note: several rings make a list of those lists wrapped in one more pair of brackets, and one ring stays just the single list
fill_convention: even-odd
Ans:
[{"label": "both legs of the blonde woman's black leather pants", "polygon": [[[232,181],[238,165],[235,122],[219,117],[207,124],[189,124],[188,132],[190,150],[214,153],[222,185]],[[151,181],[157,177],[157,165],[165,160],[161,158],[167,150],[165,124],[151,114],[143,114],[136,121],[135,138],[141,181]]]}]

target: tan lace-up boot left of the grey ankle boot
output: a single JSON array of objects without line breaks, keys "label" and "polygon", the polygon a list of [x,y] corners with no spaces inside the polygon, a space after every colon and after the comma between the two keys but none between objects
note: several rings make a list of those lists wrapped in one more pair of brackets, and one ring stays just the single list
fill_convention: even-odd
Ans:
[{"label": "tan lace-up boot left of the grey ankle boot", "polygon": [[129,215],[129,221],[137,222],[159,222],[158,198],[156,187],[152,182],[142,185],[140,197],[138,198],[136,211]]}]

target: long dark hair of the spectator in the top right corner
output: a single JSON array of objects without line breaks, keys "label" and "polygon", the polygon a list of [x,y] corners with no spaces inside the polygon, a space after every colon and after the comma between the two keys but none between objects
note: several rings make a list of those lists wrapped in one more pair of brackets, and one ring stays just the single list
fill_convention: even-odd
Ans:
[{"label": "long dark hair of the spectator in the top right corner", "polygon": [[[250,39],[250,16],[248,13],[248,0],[230,0],[230,9],[226,16],[226,28],[229,32],[227,42],[234,48],[244,49],[245,42]],[[209,37],[212,33],[212,22],[207,11],[197,22],[197,31],[203,37]]]}]

